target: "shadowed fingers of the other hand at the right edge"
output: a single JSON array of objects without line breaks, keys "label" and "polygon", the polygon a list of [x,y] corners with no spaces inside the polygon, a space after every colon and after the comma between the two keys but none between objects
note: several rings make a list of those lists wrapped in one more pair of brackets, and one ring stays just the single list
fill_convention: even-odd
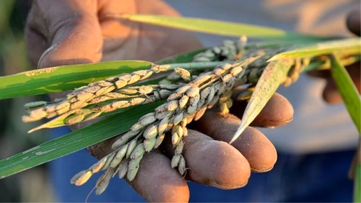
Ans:
[{"label": "shadowed fingers of the other hand at the right edge", "polygon": [[[347,28],[355,35],[361,36],[361,12],[350,12],[346,20]],[[361,62],[346,67],[358,92],[361,92]],[[309,75],[326,79],[326,86],[323,89],[323,99],[329,104],[337,104],[342,102],[340,93],[337,90],[336,83],[332,79],[329,70],[317,70],[309,72]]]}]

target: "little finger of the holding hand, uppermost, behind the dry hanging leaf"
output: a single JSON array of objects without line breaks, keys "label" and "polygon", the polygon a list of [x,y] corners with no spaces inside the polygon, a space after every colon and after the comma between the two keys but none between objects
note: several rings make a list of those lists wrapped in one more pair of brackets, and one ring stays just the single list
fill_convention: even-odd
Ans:
[{"label": "little finger of the holding hand, uppermost, behind the dry hanging leaf", "polygon": [[[230,112],[235,116],[242,118],[244,109],[247,106],[246,101],[238,101],[236,97],[238,92],[235,92],[233,100],[234,103]],[[288,124],[293,120],[292,104],[282,95],[277,92],[271,96],[262,111],[258,114],[251,126],[258,127],[277,127]]]}]

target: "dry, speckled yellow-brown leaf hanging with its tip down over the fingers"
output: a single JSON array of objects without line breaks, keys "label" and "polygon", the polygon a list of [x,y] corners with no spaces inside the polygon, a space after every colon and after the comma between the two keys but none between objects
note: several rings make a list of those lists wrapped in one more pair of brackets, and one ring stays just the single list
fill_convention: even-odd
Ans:
[{"label": "dry, speckled yellow-brown leaf hanging with its tip down over the fingers", "polygon": [[269,62],[257,82],[255,90],[244,111],[241,124],[230,143],[234,142],[239,135],[242,134],[244,129],[255,120],[256,116],[261,112],[263,107],[265,107],[279,85],[286,79],[292,64],[293,61],[289,59]]}]

